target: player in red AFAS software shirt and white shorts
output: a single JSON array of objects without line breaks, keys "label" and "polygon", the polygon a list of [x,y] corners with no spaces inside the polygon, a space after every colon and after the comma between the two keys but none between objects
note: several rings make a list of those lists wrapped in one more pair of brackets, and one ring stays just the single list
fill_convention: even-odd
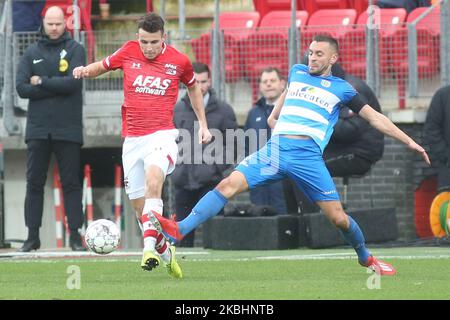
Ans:
[{"label": "player in red AFAS software shirt and white shorts", "polygon": [[173,110],[180,81],[187,87],[199,122],[199,143],[208,143],[211,133],[192,64],[186,55],[166,44],[165,38],[164,20],[156,13],[148,13],[138,21],[137,40],[126,42],[102,61],[75,68],[73,76],[93,78],[122,69],[125,96],[122,160],[125,190],[143,231],[141,267],[150,271],[159,265],[161,257],[168,273],[181,278],[175,247],[148,220],[150,211],[163,213],[164,180],[174,170],[177,160],[178,130],[173,124]]}]

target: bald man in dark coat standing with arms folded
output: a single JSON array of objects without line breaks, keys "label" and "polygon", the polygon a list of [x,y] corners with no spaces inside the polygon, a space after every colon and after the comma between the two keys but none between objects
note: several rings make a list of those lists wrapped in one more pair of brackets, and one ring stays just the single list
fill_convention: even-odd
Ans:
[{"label": "bald man in dark coat standing with arms folded", "polygon": [[28,238],[20,251],[40,247],[44,185],[51,154],[56,160],[70,228],[70,246],[85,250],[78,229],[83,225],[80,183],[82,133],[82,83],[72,70],[84,64],[84,48],[70,38],[64,13],[50,7],[40,30],[40,40],[29,46],[18,66],[16,89],[29,99],[25,142],[27,190],[25,224]]}]

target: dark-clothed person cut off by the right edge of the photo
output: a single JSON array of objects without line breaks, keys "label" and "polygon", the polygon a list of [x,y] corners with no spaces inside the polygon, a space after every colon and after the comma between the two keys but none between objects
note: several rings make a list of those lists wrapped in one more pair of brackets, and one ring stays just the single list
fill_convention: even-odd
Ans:
[{"label": "dark-clothed person cut off by the right edge of the photo", "polygon": [[430,150],[431,163],[438,173],[438,191],[450,190],[450,86],[433,95],[424,125],[423,137]]}]

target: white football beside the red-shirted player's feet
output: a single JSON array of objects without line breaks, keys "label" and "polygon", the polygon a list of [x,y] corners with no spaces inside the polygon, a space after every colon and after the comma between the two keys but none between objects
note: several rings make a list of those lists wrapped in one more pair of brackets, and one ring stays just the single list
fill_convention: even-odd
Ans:
[{"label": "white football beside the red-shirted player's feet", "polygon": [[116,250],[119,246],[120,230],[110,220],[95,220],[87,227],[84,241],[92,252],[108,254]]}]

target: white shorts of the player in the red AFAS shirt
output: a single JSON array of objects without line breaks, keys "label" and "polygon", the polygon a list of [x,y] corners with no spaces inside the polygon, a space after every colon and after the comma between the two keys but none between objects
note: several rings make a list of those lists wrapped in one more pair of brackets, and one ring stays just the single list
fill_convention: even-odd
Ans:
[{"label": "white shorts of the player in the red AFAS shirt", "polygon": [[125,192],[130,200],[145,196],[145,170],[161,168],[164,176],[175,169],[178,130],[161,130],[141,137],[126,137],[122,148]]}]

